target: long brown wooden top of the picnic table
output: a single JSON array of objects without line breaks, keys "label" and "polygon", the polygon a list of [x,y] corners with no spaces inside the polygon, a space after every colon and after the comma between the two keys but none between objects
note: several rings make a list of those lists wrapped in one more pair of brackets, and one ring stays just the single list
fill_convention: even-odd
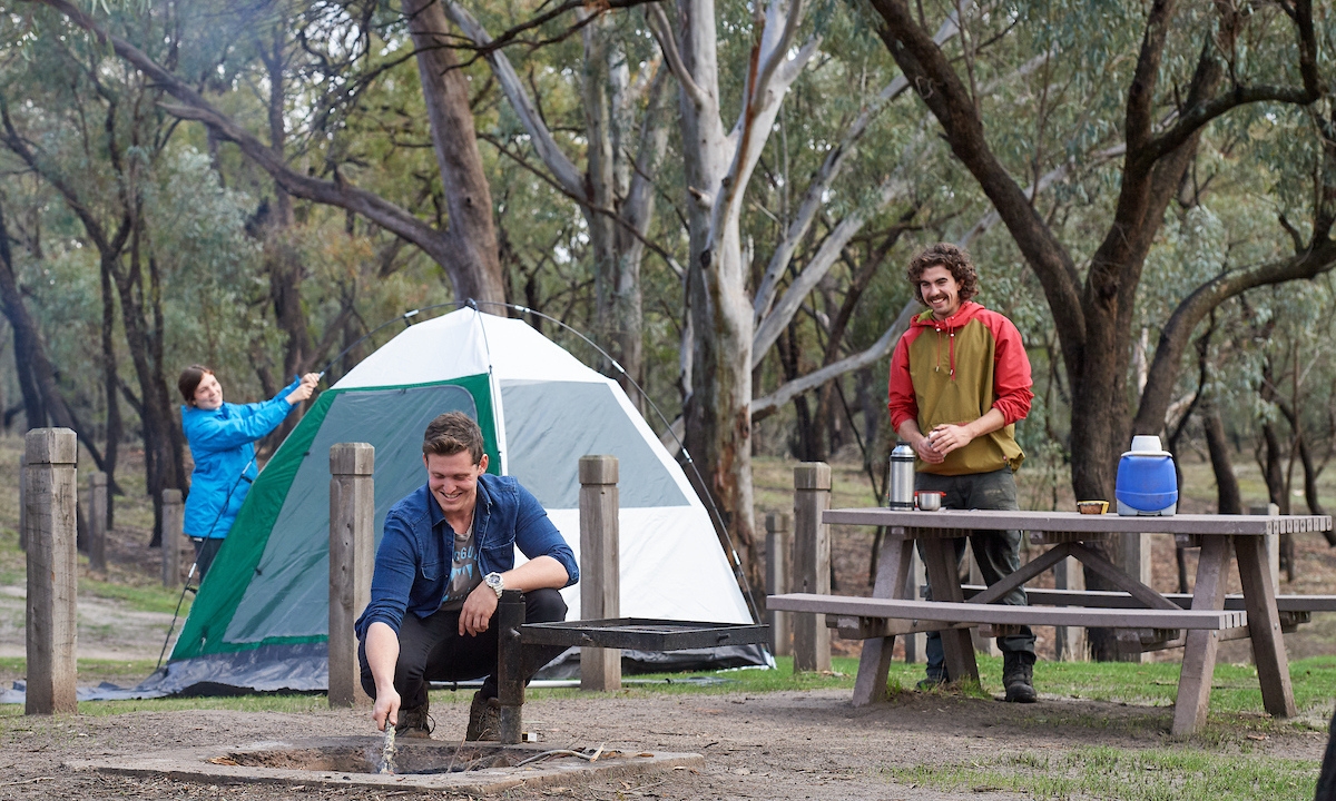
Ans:
[{"label": "long brown wooden top of the picnic table", "polygon": [[1075,534],[1201,534],[1261,537],[1329,531],[1331,515],[1176,514],[1169,517],[1079,514],[1075,511],[955,510],[900,511],[875,509],[827,509],[822,522],[844,526],[891,526],[923,530],[1065,531]]}]

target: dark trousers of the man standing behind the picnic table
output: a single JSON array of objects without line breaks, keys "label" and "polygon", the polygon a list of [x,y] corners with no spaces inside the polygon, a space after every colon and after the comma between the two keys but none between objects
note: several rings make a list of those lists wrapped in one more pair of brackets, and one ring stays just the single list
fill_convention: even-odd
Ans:
[{"label": "dark trousers of the man standing behind the picnic table", "polygon": [[[937,490],[946,493],[943,509],[1001,509],[1015,510],[1015,475],[1010,467],[994,470],[993,473],[975,473],[973,475],[934,475],[919,473],[914,477],[915,490]],[[979,574],[989,586],[995,585],[1007,575],[1021,569],[1021,533],[1019,531],[977,531],[970,538],[974,549],[974,561],[979,566]],[[953,539],[955,546],[955,562],[959,565],[965,557],[965,538]],[[923,555],[923,545],[919,543],[919,557]],[[927,591],[933,598],[933,587]],[[1025,606],[1025,590],[1017,587],[1002,597],[1002,603],[1011,606]],[[933,678],[946,678],[946,654],[942,651],[942,634],[927,633],[927,674]],[[1034,633],[1029,626],[1023,626],[1019,634],[998,637],[998,650],[1002,653],[1025,651],[1034,653]]]}]

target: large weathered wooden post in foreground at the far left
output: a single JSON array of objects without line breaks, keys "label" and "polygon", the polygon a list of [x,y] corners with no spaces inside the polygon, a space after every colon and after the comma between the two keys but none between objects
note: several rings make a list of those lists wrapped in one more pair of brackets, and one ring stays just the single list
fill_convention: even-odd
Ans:
[{"label": "large weathered wooden post in foreground at the far left", "polygon": [[75,698],[79,439],[69,429],[33,429],[25,437],[24,451],[28,473],[23,497],[28,529],[24,714],[72,714],[79,710]]}]

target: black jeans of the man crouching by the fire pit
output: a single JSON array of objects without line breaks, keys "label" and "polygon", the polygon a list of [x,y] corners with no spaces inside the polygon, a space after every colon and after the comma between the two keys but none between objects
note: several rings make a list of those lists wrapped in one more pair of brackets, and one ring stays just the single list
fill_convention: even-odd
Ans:
[{"label": "black jeans of the man crouching by the fire pit", "polygon": [[[530,590],[524,594],[524,622],[552,623],[566,619],[566,602],[552,589]],[[525,646],[524,678],[561,655],[564,646]],[[366,641],[357,645],[357,659],[362,668],[362,689],[375,698],[375,678],[366,663]],[[460,613],[437,611],[426,618],[405,613],[399,625],[399,661],[394,666],[394,689],[403,709],[417,709],[426,704],[428,684],[433,681],[482,682],[482,697],[497,696],[497,625],[496,614],[488,630],[478,635],[460,635]]]}]

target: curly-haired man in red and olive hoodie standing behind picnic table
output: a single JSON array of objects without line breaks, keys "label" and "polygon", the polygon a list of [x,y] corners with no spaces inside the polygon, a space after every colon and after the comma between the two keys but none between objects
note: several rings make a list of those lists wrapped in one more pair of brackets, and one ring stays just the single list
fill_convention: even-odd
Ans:
[{"label": "curly-haired man in red and olive hoodie standing behind picnic table", "polygon": [[[891,356],[891,425],[918,455],[916,490],[946,493],[946,509],[1017,509],[1013,474],[1025,459],[1015,422],[1030,411],[1030,359],[1011,320],[971,298],[979,278],[969,254],[934,244],[910,262],[908,280],[927,311],[914,318]],[[955,539],[957,561],[965,539]],[[970,537],[989,585],[1021,567],[1019,531]],[[1003,603],[1025,605],[1017,589]],[[1006,700],[1033,704],[1034,634],[998,637]],[[927,635],[927,678],[919,689],[950,681],[942,637]]]}]

